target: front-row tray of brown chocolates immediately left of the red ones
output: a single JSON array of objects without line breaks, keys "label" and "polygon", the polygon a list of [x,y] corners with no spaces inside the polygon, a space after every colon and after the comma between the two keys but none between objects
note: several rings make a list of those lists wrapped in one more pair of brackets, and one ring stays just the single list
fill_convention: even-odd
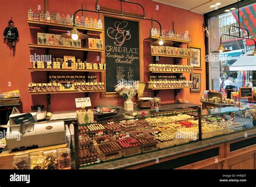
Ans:
[{"label": "front-row tray of brown chocolates immediately left of the red ones", "polygon": [[102,156],[103,160],[109,160],[123,156],[123,149],[117,142],[99,144],[98,148],[102,152],[102,155],[100,156]]}]

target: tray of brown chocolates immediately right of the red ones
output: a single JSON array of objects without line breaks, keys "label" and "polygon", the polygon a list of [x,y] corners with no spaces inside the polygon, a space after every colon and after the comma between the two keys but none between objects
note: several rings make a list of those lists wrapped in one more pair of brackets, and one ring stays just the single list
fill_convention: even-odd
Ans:
[{"label": "tray of brown chocolates immediately right of the red ones", "polygon": [[140,143],[140,149],[144,151],[149,151],[152,149],[157,149],[158,141],[154,140],[154,137],[152,137],[149,134],[146,134],[142,131],[130,131],[130,135],[134,138],[136,138]]}]

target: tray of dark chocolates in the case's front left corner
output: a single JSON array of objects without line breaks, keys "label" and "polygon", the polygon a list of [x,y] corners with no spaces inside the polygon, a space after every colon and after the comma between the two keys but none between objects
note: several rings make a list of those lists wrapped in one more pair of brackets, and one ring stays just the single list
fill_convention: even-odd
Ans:
[{"label": "tray of dark chocolates in the case's front left corner", "polygon": [[79,160],[81,164],[92,164],[99,160],[99,154],[95,148],[82,149],[79,153]]}]

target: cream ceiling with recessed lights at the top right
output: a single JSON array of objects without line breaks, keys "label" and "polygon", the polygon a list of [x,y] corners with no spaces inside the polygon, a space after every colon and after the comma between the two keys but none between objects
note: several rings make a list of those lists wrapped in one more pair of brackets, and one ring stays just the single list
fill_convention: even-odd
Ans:
[{"label": "cream ceiling with recessed lights at the top right", "polygon": [[224,6],[237,3],[237,0],[152,0],[154,2],[163,3],[171,6],[176,6],[181,9],[190,10],[192,12],[204,14],[211,11],[214,11],[215,8],[210,8],[211,5],[215,3],[221,3],[218,6],[218,9],[223,8]]}]

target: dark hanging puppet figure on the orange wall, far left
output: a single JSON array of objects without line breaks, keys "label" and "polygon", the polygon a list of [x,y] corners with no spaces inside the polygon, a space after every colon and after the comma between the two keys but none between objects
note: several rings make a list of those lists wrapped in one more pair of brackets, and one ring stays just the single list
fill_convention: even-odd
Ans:
[{"label": "dark hanging puppet figure on the orange wall, far left", "polygon": [[9,41],[12,47],[15,47],[16,40],[19,39],[19,32],[17,27],[14,26],[14,22],[9,20],[8,27],[4,30],[4,38]]}]

